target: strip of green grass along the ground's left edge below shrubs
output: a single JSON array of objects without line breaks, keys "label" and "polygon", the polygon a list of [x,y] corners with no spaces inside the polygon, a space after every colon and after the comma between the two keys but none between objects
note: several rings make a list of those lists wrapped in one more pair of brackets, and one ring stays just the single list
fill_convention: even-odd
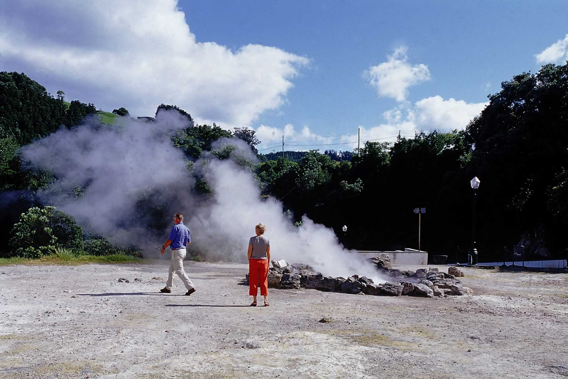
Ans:
[{"label": "strip of green grass along the ground's left edge below shrubs", "polygon": [[126,254],[111,255],[79,255],[74,256],[67,252],[45,255],[39,259],[30,258],[0,258],[0,266],[10,265],[80,265],[88,263],[142,263],[143,260]]}]

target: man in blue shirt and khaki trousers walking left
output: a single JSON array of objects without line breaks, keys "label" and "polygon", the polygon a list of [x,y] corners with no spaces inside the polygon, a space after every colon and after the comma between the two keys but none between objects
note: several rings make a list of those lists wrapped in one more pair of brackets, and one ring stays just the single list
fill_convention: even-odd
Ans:
[{"label": "man in blue shirt and khaki trousers walking left", "polygon": [[172,249],[172,260],[170,261],[170,271],[168,273],[168,282],[166,286],[162,288],[160,291],[165,293],[172,293],[172,285],[174,282],[174,274],[177,274],[179,278],[182,280],[183,284],[185,284],[185,288],[187,288],[186,295],[191,295],[195,292],[195,288],[185,270],[183,269],[183,259],[186,255],[186,246],[191,243],[191,237],[189,235],[189,229],[183,224],[183,215],[181,213],[176,213],[174,215],[174,227],[170,232],[170,236],[168,240],[162,247],[160,254],[164,255],[164,250],[166,247],[170,247]]}]

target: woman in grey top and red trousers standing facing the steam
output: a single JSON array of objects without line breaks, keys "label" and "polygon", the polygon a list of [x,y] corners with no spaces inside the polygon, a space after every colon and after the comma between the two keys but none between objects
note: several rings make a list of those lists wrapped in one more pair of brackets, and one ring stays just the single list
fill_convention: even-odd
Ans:
[{"label": "woman in grey top and red trousers standing facing the steam", "polygon": [[264,296],[264,306],[270,303],[266,299],[268,296],[268,265],[270,262],[270,241],[264,236],[266,227],[263,223],[254,227],[256,236],[249,240],[248,260],[249,260],[249,295],[253,297],[250,304],[256,307],[256,295],[258,294],[258,284],[260,284],[260,294]]}]

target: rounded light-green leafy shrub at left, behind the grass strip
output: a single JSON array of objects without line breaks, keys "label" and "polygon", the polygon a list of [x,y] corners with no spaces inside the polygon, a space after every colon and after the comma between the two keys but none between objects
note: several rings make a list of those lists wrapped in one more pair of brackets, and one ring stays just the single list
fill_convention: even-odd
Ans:
[{"label": "rounded light-green leafy shrub at left, behind the grass strip", "polygon": [[39,258],[56,247],[81,249],[83,233],[75,219],[55,207],[31,207],[11,231],[12,256]]}]

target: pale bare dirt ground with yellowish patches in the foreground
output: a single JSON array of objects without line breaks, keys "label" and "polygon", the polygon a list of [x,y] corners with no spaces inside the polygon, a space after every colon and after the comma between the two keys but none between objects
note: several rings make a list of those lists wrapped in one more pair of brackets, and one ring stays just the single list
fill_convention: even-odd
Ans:
[{"label": "pale bare dirt ground with yellowish patches in the foreground", "polygon": [[168,264],[0,268],[0,378],[568,377],[568,274],[465,268],[474,295],[253,308],[246,265],[187,263],[187,297],[179,278],[158,292]]}]

